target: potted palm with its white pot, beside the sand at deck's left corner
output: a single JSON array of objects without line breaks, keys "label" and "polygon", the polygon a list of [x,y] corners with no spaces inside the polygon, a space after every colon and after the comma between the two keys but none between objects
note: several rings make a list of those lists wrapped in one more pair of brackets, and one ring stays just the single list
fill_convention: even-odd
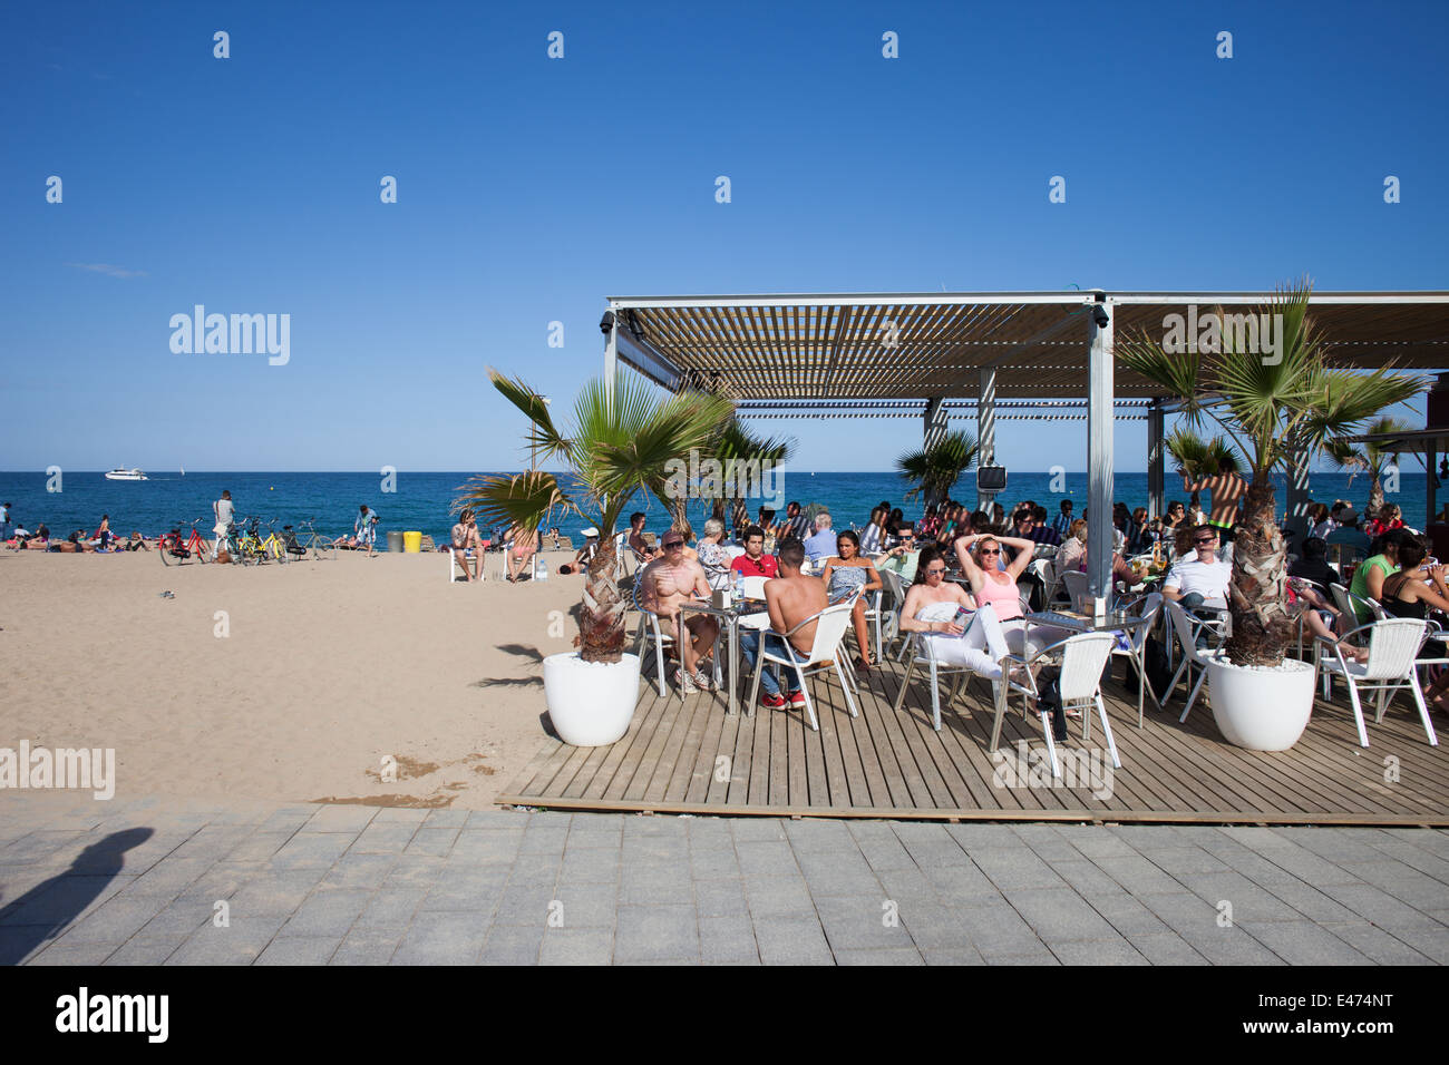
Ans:
[{"label": "potted palm with its white pot, beside the sand at deck's left corner", "polygon": [[619,374],[609,388],[591,381],[574,403],[574,426],[559,429],[543,397],[490,368],[493,385],[529,416],[529,445],[546,465],[568,467],[569,484],[542,469],[481,475],[459,488],[454,509],[472,507],[484,523],[538,529],[555,513],[598,527],[598,551],[584,577],[577,651],[543,659],[543,693],[559,739],[574,746],[613,743],[629,730],[639,697],[639,656],[625,653],[625,600],[614,555],[619,517],[638,491],[667,497],[671,459],[707,449],[733,416],[727,398],[698,391],[659,397]]}]

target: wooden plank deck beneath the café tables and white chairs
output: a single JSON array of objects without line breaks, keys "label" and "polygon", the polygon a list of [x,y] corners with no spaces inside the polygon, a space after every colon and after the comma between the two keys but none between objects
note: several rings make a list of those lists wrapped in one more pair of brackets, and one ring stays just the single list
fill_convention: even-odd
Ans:
[{"label": "wooden plank deck beneath the caf\u00e9 tables and white chairs", "polygon": [[[1122,668],[1114,662],[1119,677]],[[1051,771],[1039,768],[1022,774],[1035,784],[1006,787],[1016,769],[1045,755],[1037,719],[1023,720],[1014,700],[1001,733],[1003,756],[994,762],[987,751],[993,710],[985,682],[974,681],[953,709],[943,707],[938,733],[919,675],[900,714],[893,711],[903,674],[894,662],[875,669],[861,684],[858,719],[851,719],[839,681],[811,678],[820,732],[809,727],[800,709],[732,716],[723,694],[681,701],[671,690],[659,697],[649,677],[622,740],[571,748],[549,739],[497,801],[775,817],[1449,826],[1449,753],[1429,746],[1403,697],[1390,704],[1381,724],[1372,723],[1365,706],[1366,749],[1358,745],[1340,684],[1333,703],[1316,703],[1291,751],[1256,753],[1223,740],[1204,701],[1178,724],[1187,697],[1181,687],[1169,713],[1148,701],[1139,730],[1136,696],[1111,681],[1103,693],[1122,768],[1110,778],[1084,780],[1084,774],[1077,787],[1042,787]],[[1435,724],[1443,730],[1443,716]],[[1059,752],[1081,752],[1078,768],[1085,768],[1090,751],[1098,748],[1098,765],[1110,769],[1098,723],[1087,743],[1080,722],[1071,723],[1071,733]],[[1397,759],[1395,782],[1385,781],[1387,759]],[[1064,759],[1064,778],[1066,769]]]}]

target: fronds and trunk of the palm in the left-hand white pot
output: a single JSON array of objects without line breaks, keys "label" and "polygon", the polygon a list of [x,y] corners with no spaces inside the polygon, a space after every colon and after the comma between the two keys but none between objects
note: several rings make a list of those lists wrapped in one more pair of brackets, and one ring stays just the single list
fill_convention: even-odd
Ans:
[{"label": "fronds and trunk of the palm in the left-hand white pot", "polygon": [[555,426],[543,397],[523,381],[491,367],[488,378],[529,416],[529,445],[545,462],[564,461],[578,484],[569,496],[543,471],[474,477],[459,488],[464,494],[454,510],[474,507],[485,523],[517,522],[526,529],[538,529],[555,511],[572,511],[598,526],[598,551],[588,564],[578,614],[580,658],[617,662],[625,646],[625,601],[614,561],[619,516],[636,491],[667,498],[669,461],[709,448],[735,404],[697,391],[661,398],[620,372],[611,390],[603,380],[584,385],[574,403],[574,429],[565,433]]}]

